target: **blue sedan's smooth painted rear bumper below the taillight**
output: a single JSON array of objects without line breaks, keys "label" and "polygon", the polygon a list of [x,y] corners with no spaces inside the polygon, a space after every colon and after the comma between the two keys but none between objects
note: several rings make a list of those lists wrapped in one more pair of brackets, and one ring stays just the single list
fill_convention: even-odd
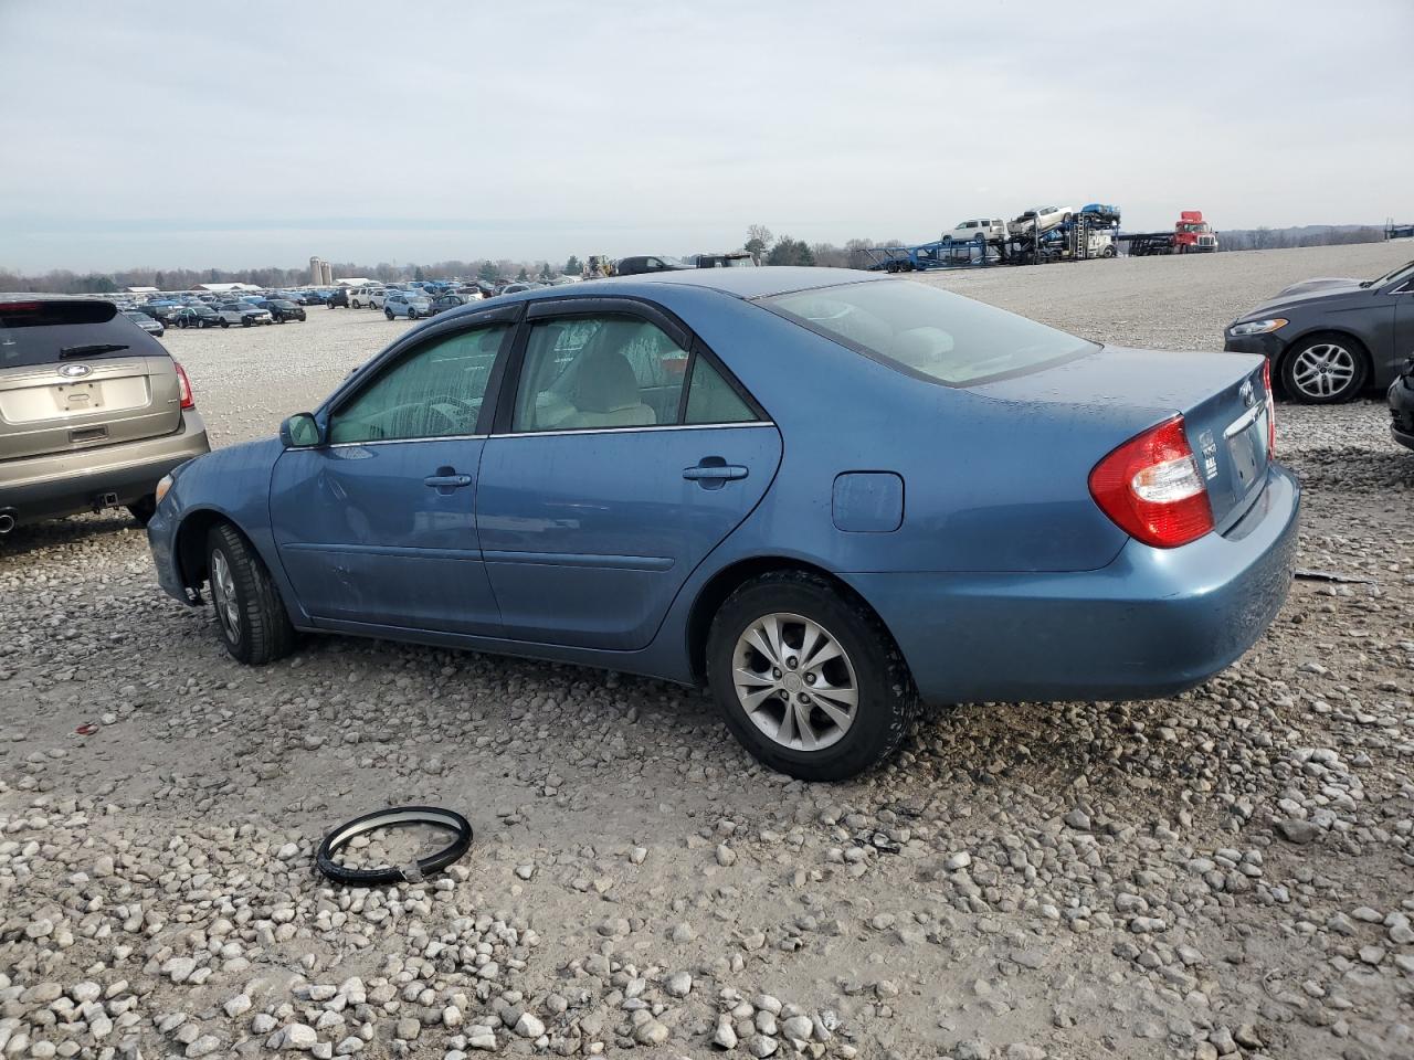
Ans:
[{"label": "blue sedan's smooth painted rear bumper below the taillight", "polygon": [[847,574],[926,702],[1141,700],[1239,659],[1291,588],[1301,488],[1273,465],[1226,534],[1073,574]]}]

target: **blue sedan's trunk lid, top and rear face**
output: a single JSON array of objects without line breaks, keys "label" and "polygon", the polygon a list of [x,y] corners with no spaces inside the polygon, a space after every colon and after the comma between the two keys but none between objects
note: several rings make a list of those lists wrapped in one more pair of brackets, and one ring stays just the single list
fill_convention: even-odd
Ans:
[{"label": "blue sedan's trunk lid, top and rear face", "polygon": [[[1219,533],[1241,517],[1267,481],[1271,452],[1258,356],[1104,346],[1062,365],[970,390],[1005,400],[1070,404],[1076,416],[1086,418],[1093,418],[1094,406],[1104,406],[1111,413],[1106,418],[1116,428],[1111,448],[1175,413],[1182,414]],[[1106,452],[1096,452],[1096,462]]]}]

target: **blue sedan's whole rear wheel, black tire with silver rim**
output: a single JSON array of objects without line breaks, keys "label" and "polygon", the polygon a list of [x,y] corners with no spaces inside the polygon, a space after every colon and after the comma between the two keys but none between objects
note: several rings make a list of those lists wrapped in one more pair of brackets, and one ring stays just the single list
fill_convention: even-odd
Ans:
[{"label": "blue sedan's whole rear wheel, black tire with silver rim", "polygon": [[918,714],[908,666],[878,616],[802,571],[766,574],[727,598],[707,637],[707,680],[747,750],[800,780],[874,769]]}]

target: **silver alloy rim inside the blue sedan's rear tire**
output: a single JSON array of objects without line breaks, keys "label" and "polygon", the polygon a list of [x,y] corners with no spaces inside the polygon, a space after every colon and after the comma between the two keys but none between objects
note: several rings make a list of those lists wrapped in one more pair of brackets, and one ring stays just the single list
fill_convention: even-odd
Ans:
[{"label": "silver alloy rim inside the blue sedan's rear tire", "polygon": [[858,681],[844,646],[802,615],[764,615],[747,626],[732,653],[732,684],[756,728],[792,750],[837,743],[858,712]]}]

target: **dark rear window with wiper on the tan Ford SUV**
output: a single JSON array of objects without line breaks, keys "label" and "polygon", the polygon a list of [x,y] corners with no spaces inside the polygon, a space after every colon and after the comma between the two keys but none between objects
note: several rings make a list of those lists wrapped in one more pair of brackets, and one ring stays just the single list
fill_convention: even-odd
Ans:
[{"label": "dark rear window with wiper on the tan Ford SUV", "polygon": [[113,302],[0,301],[0,372],[61,360],[165,353],[157,339]]}]

